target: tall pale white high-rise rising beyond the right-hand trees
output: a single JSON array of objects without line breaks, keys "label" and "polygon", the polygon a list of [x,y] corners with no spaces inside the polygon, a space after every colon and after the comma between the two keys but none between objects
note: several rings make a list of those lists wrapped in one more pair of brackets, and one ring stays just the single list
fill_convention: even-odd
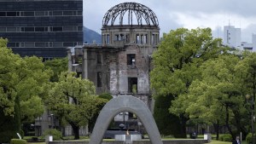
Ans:
[{"label": "tall pale white high-rise rising beyond the right-hand trees", "polygon": [[230,46],[231,48],[241,49],[241,28],[224,26],[223,40],[224,45]]}]

